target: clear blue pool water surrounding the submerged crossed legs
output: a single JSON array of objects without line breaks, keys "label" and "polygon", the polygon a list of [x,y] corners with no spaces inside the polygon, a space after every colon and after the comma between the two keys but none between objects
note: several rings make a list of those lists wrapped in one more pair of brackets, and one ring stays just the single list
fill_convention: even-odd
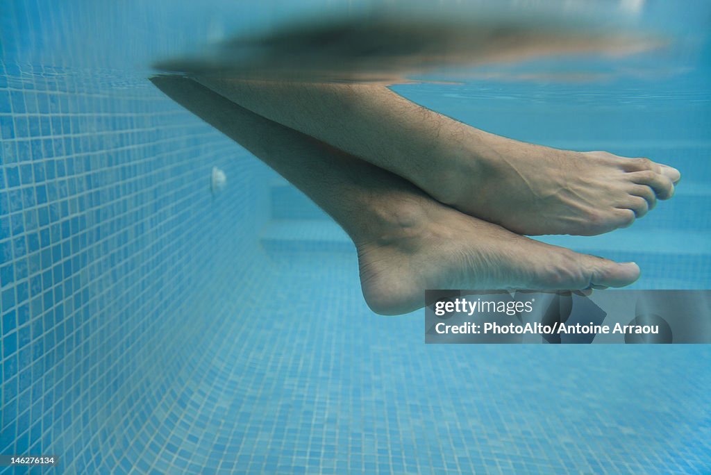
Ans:
[{"label": "clear blue pool water surrounding the submerged crossed legs", "polygon": [[[709,473],[707,346],[425,346],[422,312],[368,310],[326,215],[146,81],[156,58],[350,3],[4,2],[0,454],[87,474]],[[635,260],[638,288],[707,289],[711,7],[625,3],[675,49],[598,60],[604,81],[396,90],[677,167],[632,228],[542,239]]]}]

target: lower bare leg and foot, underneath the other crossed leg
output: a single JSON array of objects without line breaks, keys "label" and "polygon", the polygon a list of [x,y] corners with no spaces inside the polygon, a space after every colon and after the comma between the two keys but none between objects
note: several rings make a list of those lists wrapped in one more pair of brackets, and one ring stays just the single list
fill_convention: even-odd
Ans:
[{"label": "lower bare leg and foot, underneath the other crossed leg", "polygon": [[542,244],[442,205],[400,176],[177,76],[154,84],[304,191],[351,236],[363,294],[382,314],[424,304],[424,289],[624,286],[639,269]]}]

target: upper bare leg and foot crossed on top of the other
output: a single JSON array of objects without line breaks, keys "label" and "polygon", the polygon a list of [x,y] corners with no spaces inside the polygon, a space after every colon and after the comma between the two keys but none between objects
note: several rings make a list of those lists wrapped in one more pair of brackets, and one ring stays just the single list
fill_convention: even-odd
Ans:
[{"label": "upper bare leg and foot crossed on top of the other", "polygon": [[646,159],[489,134],[383,85],[197,80],[515,233],[595,235],[625,227],[657,199],[670,198],[680,178],[677,170]]}]

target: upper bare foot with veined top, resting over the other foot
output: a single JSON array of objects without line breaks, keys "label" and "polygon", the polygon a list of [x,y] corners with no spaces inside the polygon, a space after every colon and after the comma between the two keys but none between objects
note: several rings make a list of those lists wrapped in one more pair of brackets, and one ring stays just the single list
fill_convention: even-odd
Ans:
[{"label": "upper bare foot with veined top, resting over the other foot", "polygon": [[444,186],[434,197],[515,233],[597,235],[624,228],[658,199],[671,198],[680,179],[676,169],[648,159],[472,131],[474,143],[452,154],[463,158],[443,168]]}]

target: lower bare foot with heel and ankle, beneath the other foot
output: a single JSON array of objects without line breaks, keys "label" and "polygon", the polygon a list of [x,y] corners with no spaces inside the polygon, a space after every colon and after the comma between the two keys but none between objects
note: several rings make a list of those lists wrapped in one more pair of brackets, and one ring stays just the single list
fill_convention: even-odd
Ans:
[{"label": "lower bare foot with heel and ankle, beneath the other foot", "polygon": [[424,289],[587,289],[623,287],[634,263],[543,244],[424,196],[387,196],[358,249],[363,295],[378,314],[424,304]]}]

